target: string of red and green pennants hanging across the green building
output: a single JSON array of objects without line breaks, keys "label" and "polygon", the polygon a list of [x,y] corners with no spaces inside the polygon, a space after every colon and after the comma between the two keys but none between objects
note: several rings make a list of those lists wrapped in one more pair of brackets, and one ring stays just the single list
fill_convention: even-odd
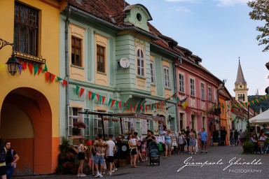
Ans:
[{"label": "string of red and green pennants hanging across the green building", "polygon": [[[79,87],[79,86],[76,85],[76,94],[79,97],[81,97],[84,92],[85,92],[85,89],[83,87]],[[131,110],[131,111],[135,111],[135,112],[141,112],[141,111],[146,112],[148,110],[165,108],[165,106],[167,106],[167,101],[169,101],[171,99],[176,100],[177,103],[180,101],[179,97],[177,96],[177,93],[175,93],[172,96],[170,96],[169,98],[167,98],[167,99],[165,99],[163,101],[159,101],[157,103],[150,103],[150,104],[145,104],[145,105],[137,105],[137,104],[133,104],[133,103],[117,101],[115,99],[106,99],[105,96],[102,96],[102,95],[97,94],[95,92],[88,91],[88,99],[89,100],[94,100],[95,97],[96,97],[99,104],[104,105],[104,101],[108,100],[107,106],[109,106],[111,108],[114,105],[116,105],[116,108],[119,108],[119,109],[123,108],[123,110]]]}]

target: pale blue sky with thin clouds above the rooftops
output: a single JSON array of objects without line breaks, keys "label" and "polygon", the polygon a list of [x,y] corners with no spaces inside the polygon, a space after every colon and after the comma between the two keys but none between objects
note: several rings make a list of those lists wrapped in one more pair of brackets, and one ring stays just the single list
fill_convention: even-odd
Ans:
[{"label": "pale blue sky with thin clouds above the rooftops", "polygon": [[256,27],[265,22],[251,20],[247,0],[126,0],[140,3],[151,14],[160,33],[188,48],[225,84],[230,95],[237,77],[238,60],[249,88],[248,95],[265,94],[269,86],[269,52],[258,45]]}]

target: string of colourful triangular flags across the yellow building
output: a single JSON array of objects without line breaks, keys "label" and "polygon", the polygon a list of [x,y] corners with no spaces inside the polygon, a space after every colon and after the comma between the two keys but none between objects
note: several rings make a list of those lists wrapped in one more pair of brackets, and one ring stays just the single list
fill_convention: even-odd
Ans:
[{"label": "string of colourful triangular flags across the yellow building", "polygon": [[[18,74],[21,75],[22,70],[27,70],[27,68],[29,69],[31,75],[34,73],[34,76],[36,76],[36,74],[39,76],[40,72],[42,71],[43,73],[45,73],[47,82],[53,83],[53,81],[56,79],[57,81],[62,81],[62,85],[67,86],[67,80],[64,80],[60,78],[59,76],[55,76],[53,73],[50,73],[48,71],[48,67],[46,64],[43,69],[42,66],[39,64],[33,64],[31,62],[23,62],[23,64],[18,64],[17,75]],[[4,71],[5,71],[5,64],[0,64],[0,72],[4,73]]]}]

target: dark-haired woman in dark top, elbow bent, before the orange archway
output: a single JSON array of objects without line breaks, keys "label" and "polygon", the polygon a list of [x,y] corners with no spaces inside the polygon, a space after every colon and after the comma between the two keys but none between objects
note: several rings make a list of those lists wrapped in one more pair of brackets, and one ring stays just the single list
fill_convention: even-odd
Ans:
[{"label": "dark-haired woman in dark top, elbow bent, before the orange archway", "polygon": [[6,178],[11,179],[14,168],[16,168],[16,164],[20,157],[18,154],[11,148],[11,142],[6,141]]}]

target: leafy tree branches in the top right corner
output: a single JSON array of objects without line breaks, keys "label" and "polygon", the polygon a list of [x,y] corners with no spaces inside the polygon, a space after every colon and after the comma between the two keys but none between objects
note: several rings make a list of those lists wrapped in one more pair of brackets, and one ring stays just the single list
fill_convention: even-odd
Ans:
[{"label": "leafy tree branches in the top right corner", "polygon": [[[254,0],[249,1],[247,6],[253,10],[249,13],[251,20],[265,21],[263,27],[256,27],[257,31],[261,31],[261,35],[256,36],[258,45],[267,45],[269,43],[269,1],[268,0]],[[263,52],[269,50],[269,44],[263,49]]]}]

